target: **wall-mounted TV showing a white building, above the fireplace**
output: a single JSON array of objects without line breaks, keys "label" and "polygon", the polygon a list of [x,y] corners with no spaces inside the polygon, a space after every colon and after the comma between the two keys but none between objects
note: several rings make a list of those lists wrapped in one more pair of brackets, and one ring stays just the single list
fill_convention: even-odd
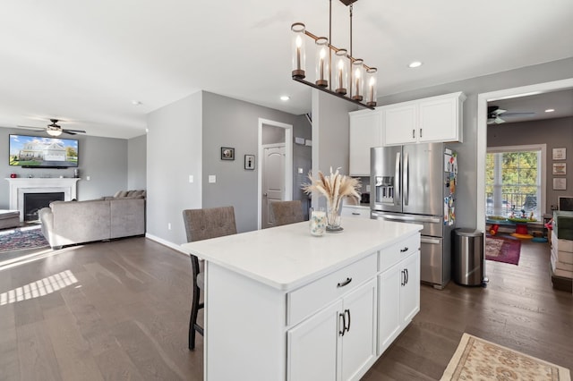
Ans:
[{"label": "wall-mounted TV showing a white building, above the fireplace", "polygon": [[9,165],[24,168],[78,166],[78,140],[10,134]]}]

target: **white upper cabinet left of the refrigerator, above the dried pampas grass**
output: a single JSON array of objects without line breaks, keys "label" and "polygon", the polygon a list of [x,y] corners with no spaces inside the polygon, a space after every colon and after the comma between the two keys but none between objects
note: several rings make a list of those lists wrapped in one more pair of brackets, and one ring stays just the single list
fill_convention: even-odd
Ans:
[{"label": "white upper cabinet left of the refrigerator, above the dried pampas grass", "polygon": [[370,176],[370,148],[382,146],[381,110],[360,110],[350,116],[351,176]]}]

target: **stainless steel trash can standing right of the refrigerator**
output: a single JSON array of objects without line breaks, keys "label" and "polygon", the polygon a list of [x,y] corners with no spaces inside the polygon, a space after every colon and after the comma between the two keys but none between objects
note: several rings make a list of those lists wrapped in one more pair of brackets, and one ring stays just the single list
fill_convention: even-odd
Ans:
[{"label": "stainless steel trash can standing right of the refrigerator", "polygon": [[471,286],[483,285],[485,281],[483,233],[474,229],[455,229],[453,243],[454,282]]}]

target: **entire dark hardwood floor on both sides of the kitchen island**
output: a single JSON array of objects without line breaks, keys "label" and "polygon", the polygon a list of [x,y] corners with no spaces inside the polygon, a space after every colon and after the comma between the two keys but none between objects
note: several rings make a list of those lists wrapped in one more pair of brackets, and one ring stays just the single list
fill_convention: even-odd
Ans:
[{"label": "entire dark hardwood floor on both sides of the kitchen island", "polygon": [[[184,255],[139,237],[1,261],[0,379],[202,379]],[[573,368],[573,296],[552,289],[548,263],[549,244],[524,241],[519,266],[487,262],[486,288],[423,285],[420,313],[364,379],[439,379],[464,332]]]}]

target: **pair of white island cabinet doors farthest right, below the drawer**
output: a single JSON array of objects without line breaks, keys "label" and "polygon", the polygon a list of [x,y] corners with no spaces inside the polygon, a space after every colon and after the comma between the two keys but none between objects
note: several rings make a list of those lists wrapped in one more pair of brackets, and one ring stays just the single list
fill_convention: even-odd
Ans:
[{"label": "pair of white island cabinet doors farthest right, below the drawer", "polygon": [[378,275],[378,355],[380,356],[420,310],[420,250]]}]

